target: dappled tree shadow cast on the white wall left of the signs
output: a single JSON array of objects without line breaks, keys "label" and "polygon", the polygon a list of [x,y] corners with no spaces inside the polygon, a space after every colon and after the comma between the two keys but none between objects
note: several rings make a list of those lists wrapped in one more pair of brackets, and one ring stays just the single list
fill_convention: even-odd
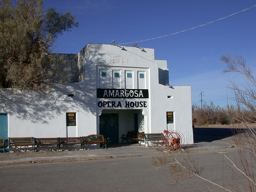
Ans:
[{"label": "dappled tree shadow cast on the white wall left of the signs", "polygon": [[[54,84],[50,92],[38,94],[36,91],[0,89],[0,107],[2,113],[14,114],[21,120],[33,123],[45,123],[70,111],[96,115],[96,65],[108,65],[104,54],[97,54],[102,45],[97,44],[90,50],[90,57],[85,50],[80,54],[84,60],[80,65],[80,75],[84,80],[79,83]],[[86,48],[84,48],[86,49]],[[95,65],[95,66],[94,66]],[[86,67],[86,69],[85,69]],[[74,94],[74,96],[69,96]]]}]

